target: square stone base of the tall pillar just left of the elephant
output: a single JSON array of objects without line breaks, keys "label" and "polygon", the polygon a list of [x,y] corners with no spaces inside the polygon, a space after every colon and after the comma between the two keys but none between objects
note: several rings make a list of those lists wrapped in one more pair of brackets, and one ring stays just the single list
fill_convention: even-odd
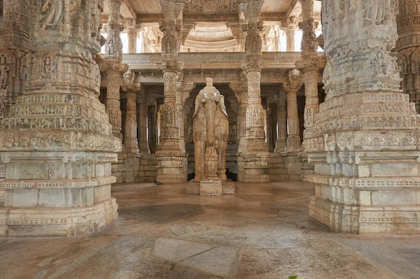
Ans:
[{"label": "square stone base of the tall pillar just left of the elephant", "polygon": [[158,159],[158,177],[160,183],[180,184],[187,181],[186,156],[156,156]]}]

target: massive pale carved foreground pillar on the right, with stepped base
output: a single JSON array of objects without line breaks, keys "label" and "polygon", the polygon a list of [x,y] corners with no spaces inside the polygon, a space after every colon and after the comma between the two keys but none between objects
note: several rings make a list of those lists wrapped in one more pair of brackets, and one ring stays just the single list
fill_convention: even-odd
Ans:
[{"label": "massive pale carved foreground pillar on the right, with stepped base", "polygon": [[420,117],[390,52],[397,3],[322,1],[326,97],[304,141],[315,169],[309,216],[334,231],[420,234]]}]

